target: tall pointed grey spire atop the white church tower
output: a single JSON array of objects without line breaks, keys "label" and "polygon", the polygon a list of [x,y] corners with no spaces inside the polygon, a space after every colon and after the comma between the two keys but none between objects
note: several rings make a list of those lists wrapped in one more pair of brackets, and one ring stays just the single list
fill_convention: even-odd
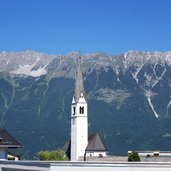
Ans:
[{"label": "tall pointed grey spire atop the white church tower", "polygon": [[78,102],[81,93],[85,95],[84,92],[84,85],[83,85],[83,76],[82,76],[82,70],[81,70],[81,57],[78,60],[78,66],[77,66],[77,73],[76,73],[76,81],[75,81],[75,90],[74,90],[74,98],[75,101]]}]

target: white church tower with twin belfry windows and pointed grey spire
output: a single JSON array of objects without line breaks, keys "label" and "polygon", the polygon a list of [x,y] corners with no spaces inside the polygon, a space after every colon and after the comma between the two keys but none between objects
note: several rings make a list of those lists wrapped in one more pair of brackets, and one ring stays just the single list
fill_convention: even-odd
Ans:
[{"label": "white church tower with twin belfry windows and pointed grey spire", "polygon": [[88,116],[85,98],[81,58],[79,58],[75,90],[71,104],[71,161],[77,161],[85,155],[88,145]]}]

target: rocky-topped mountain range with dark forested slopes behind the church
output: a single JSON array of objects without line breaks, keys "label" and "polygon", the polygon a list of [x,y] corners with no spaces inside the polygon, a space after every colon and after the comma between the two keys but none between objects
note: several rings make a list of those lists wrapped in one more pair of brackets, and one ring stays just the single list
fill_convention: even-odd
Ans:
[{"label": "rocky-topped mountain range with dark forested slopes behind the church", "polygon": [[171,150],[171,51],[49,55],[0,52],[0,127],[23,144],[24,158],[62,148],[81,56],[89,132],[109,154]]}]

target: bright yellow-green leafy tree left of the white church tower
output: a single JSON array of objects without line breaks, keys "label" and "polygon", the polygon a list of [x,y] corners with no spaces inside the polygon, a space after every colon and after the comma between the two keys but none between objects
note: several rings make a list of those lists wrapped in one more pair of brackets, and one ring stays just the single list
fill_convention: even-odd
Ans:
[{"label": "bright yellow-green leafy tree left of the white church tower", "polygon": [[54,151],[40,151],[37,153],[37,156],[39,160],[55,160],[55,161],[66,160],[65,153],[61,149],[54,150]]}]

